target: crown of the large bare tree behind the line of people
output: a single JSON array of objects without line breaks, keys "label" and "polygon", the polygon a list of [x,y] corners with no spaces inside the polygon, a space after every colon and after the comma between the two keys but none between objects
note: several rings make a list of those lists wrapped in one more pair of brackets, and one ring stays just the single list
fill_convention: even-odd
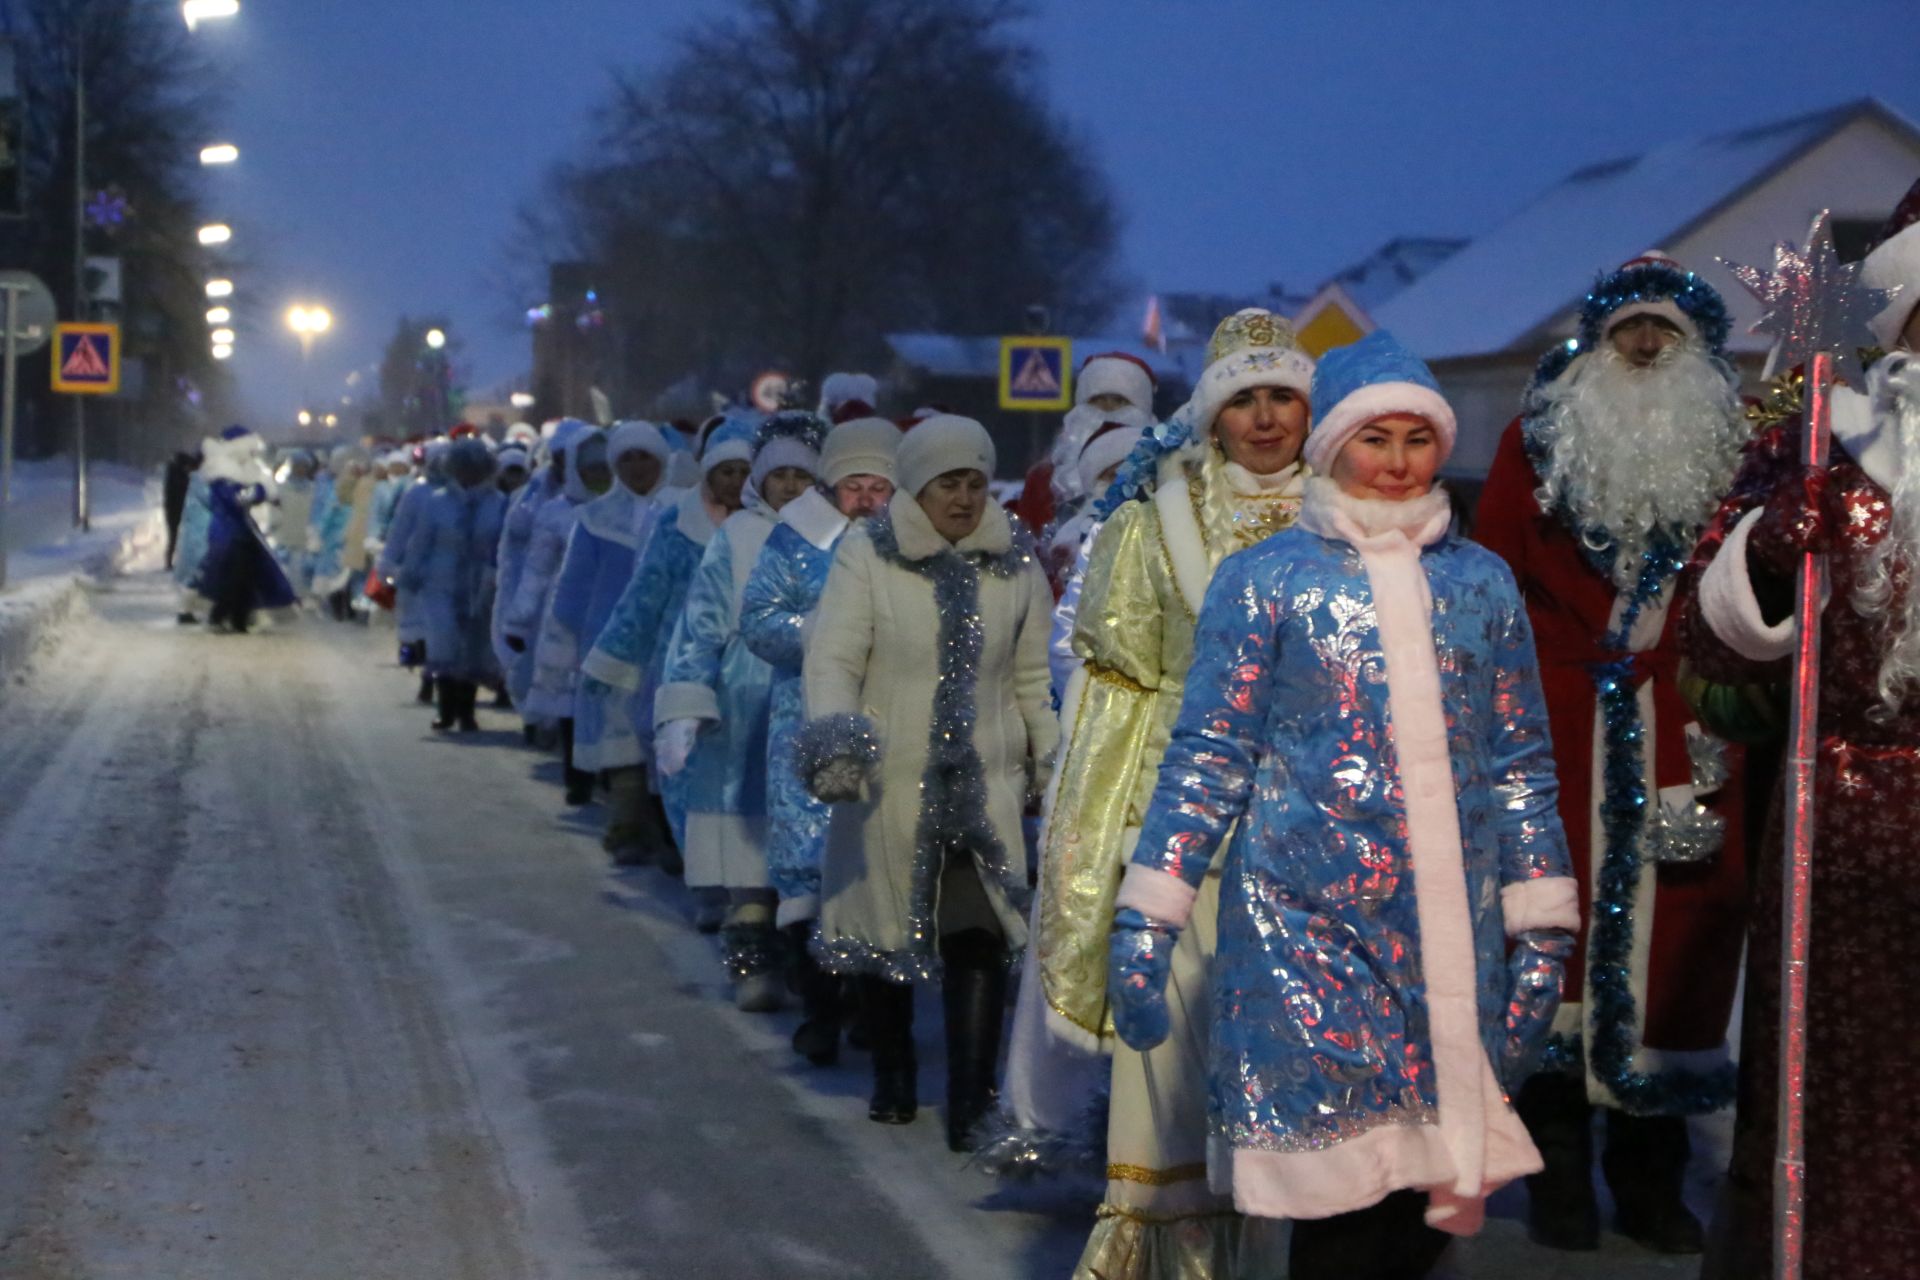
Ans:
[{"label": "crown of the large bare tree behind the line of people", "polygon": [[1112,297],[1104,178],[1004,0],[737,0],[630,73],[520,253],[599,263],[626,397],[758,363],[818,378],[899,328]]}]

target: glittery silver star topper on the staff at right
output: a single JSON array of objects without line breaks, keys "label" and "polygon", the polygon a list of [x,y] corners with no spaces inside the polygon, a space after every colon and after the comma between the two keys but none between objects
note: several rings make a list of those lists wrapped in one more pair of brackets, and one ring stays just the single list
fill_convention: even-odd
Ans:
[{"label": "glittery silver star topper on the staff at right", "polygon": [[1860,284],[1860,265],[1839,261],[1828,209],[1820,209],[1807,228],[1807,248],[1788,242],[1774,246],[1774,269],[1741,267],[1716,259],[1761,301],[1761,319],[1749,332],[1772,334],[1768,370],[1793,368],[1814,351],[1832,351],[1834,368],[1855,388],[1864,380],[1860,347],[1876,345],[1866,320],[1878,315],[1899,286],[1874,290]]}]

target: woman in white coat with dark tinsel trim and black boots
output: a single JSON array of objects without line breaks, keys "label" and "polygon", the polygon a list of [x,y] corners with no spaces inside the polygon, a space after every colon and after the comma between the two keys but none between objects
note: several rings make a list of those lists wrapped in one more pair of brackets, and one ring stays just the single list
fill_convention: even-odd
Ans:
[{"label": "woman in white coat with dark tinsel trim and black boots", "polygon": [[912,983],[941,979],[954,1150],[993,1103],[1006,963],[1027,935],[1021,814],[1058,739],[1052,591],[987,493],[993,466],[972,418],[933,416],[900,441],[899,491],[833,557],[795,750],[833,804],[816,954],[862,979],[868,1115],[914,1119]]}]

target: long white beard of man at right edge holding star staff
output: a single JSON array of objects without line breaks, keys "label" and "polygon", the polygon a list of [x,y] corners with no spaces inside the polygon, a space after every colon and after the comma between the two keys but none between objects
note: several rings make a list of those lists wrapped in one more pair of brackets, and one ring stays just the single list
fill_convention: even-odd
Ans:
[{"label": "long white beard of man at right edge holding star staff", "polygon": [[1880,432],[1899,441],[1901,474],[1893,482],[1887,535],[1866,555],[1855,591],[1855,610],[1887,620],[1887,649],[1880,656],[1880,708],[1891,716],[1920,683],[1920,357],[1893,351],[1866,378]]}]

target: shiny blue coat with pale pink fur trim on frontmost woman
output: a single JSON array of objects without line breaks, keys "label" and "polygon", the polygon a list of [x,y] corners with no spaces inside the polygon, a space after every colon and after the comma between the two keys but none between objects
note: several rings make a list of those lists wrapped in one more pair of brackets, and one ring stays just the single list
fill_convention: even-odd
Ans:
[{"label": "shiny blue coat with pale pink fur trim on frontmost woman", "polygon": [[[1398,599],[1377,612],[1373,553],[1363,560],[1354,541],[1313,530],[1325,528],[1319,493],[1309,489],[1300,526],[1229,557],[1208,589],[1185,702],[1121,890],[1123,904],[1146,910],[1133,892],[1142,873],[1198,887],[1233,833],[1210,1050],[1213,1144],[1231,1159],[1213,1165],[1231,1165],[1242,1209],[1267,1213],[1263,1197],[1273,1203],[1267,1192],[1283,1186],[1294,1217],[1455,1180],[1459,1148],[1436,1084],[1442,1048],[1467,1063],[1463,1077],[1478,1077],[1461,1079],[1467,1105],[1457,1109],[1476,1130],[1484,1113],[1469,1159],[1492,1184],[1538,1169],[1496,1082],[1513,1046],[1544,1032],[1509,1021],[1507,933],[1534,927],[1521,915],[1576,919],[1532,631],[1505,564],[1448,533],[1436,495],[1427,541],[1396,543]],[[1380,618],[1392,610],[1405,628],[1423,589],[1430,610],[1413,626],[1430,633],[1423,662],[1438,664],[1438,706],[1430,683],[1423,699],[1405,691],[1409,645],[1382,647]],[[1417,639],[1425,649],[1428,635]],[[1398,745],[1390,676],[1405,706],[1430,708],[1421,725],[1430,747],[1411,758]],[[1405,720],[1411,733],[1411,712]],[[1409,825],[1413,806],[1427,814],[1419,825]],[[1450,835],[1432,846],[1430,833],[1452,827],[1448,808],[1457,852]],[[1415,841],[1434,865],[1452,860],[1465,873],[1457,915],[1432,913],[1459,890],[1417,885]],[[1442,971],[1444,956],[1471,971]],[[1459,996],[1430,1006],[1436,984]],[[1523,1009],[1523,1019],[1538,1013]],[[1457,1032],[1444,1044],[1442,1023]]]}]

